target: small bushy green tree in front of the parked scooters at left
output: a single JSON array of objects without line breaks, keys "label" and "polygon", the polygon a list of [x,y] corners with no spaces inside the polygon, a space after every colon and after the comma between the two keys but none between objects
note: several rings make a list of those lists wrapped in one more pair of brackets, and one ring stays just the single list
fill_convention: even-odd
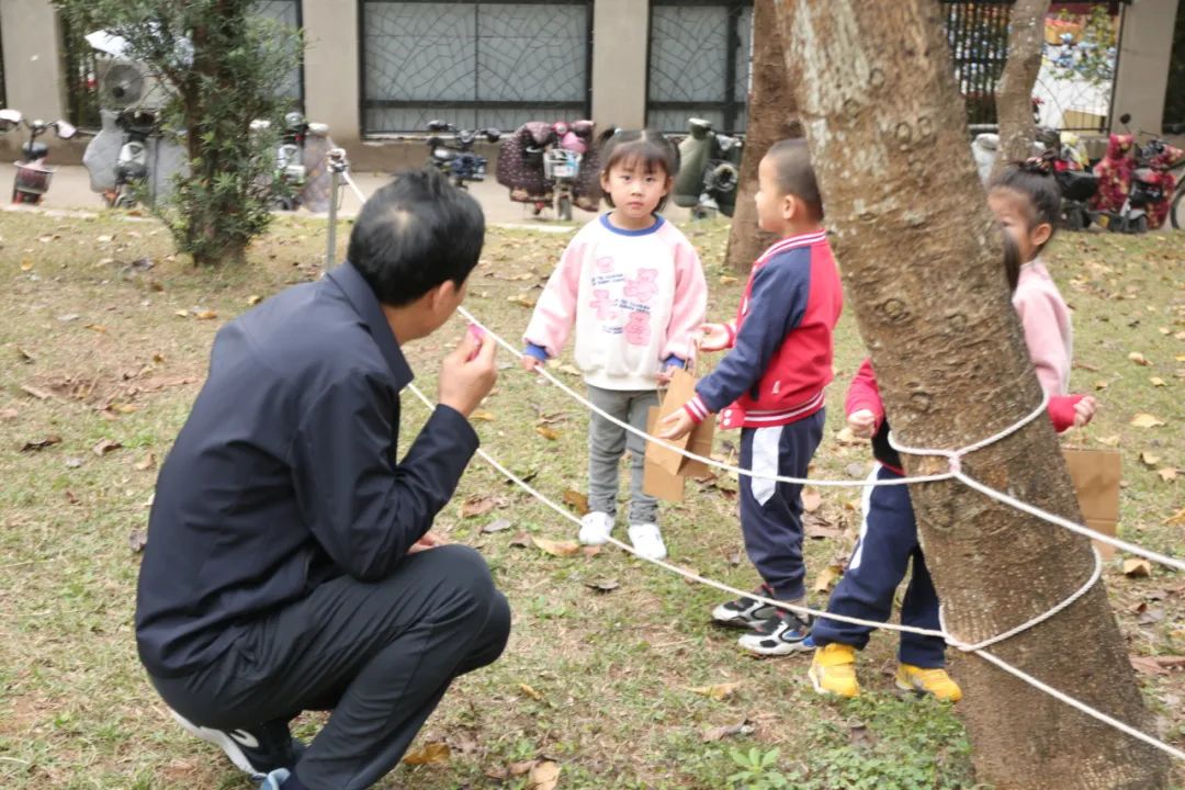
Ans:
[{"label": "small bushy green tree in front of the parked scooters at left", "polygon": [[275,134],[251,134],[252,120],[280,128],[289,99],[284,78],[300,34],[265,19],[252,0],[53,0],[69,26],[107,30],[128,43],[173,91],[162,128],[188,154],[172,197],[153,211],[194,264],[241,262],[271,219]]}]

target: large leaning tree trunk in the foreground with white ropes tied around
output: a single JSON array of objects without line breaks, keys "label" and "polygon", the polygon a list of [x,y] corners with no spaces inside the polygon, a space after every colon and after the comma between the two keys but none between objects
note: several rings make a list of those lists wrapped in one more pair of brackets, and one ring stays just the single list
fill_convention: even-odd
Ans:
[{"label": "large leaning tree trunk in the foreground with white ropes tied around", "polygon": [[[775,0],[850,303],[893,430],[960,448],[1040,402],[967,152],[937,0]],[[944,470],[905,458],[911,475]],[[971,476],[1081,522],[1057,438],[1037,419],[963,458]],[[1090,576],[1084,538],[956,481],[910,487],[946,623],[965,642],[1051,609]],[[992,653],[1151,732],[1102,584]],[[979,778],[997,790],[1164,788],[1165,756],[986,661],[957,663]]]}]

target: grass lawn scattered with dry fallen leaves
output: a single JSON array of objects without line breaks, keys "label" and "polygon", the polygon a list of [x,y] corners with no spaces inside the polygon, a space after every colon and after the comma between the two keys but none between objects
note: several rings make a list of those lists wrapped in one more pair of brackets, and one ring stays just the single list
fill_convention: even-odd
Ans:
[{"label": "grass lawn scattered with dry fallen leaves", "polygon": [[[726,226],[687,230],[707,268],[710,315],[726,317],[743,285],[722,268]],[[145,680],[132,627],[136,547],[155,469],[198,392],[214,332],[260,298],[316,277],[324,239],[324,221],[281,218],[252,248],[249,266],[201,271],[174,258],[167,232],[150,220],[0,212],[6,790],[252,786],[177,727]],[[492,230],[467,307],[518,338],[565,242]],[[1180,232],[1063,235],[1050,256],[1075,309],[1074,388],[1102,404],[1089,430],[1070,438],[1122,452],[1121,534],[1178,557],[1183,258]],[[435,391],[436,360],[462,330],[457,320],[409,348],[427,392]],[[844,388],[860,359],[847,315],[818,477],[863,476],[867,468],[865,445],[837,438]],[[553,499],[583,490],[584,411],[505,354],[501,361],[506,370],[475,423],[485,449]],[[406,398],[404,413],[410,437],[427,412]],[[1133,425],[1140,413],[1159,424]],[[731,455],[737,435],[720,439],[717,454]],[[755,576],[735,489],[728,479],[690,483],[686,502],[665,508],[664,532],[674,561],[749,587]],[[812,519],[825,537],[808,541],[812,582],[846,557],[859,521],[856,489],[818,494]],[[482,531],[502,519],[508,528]],[[575,532],[479,460],[437,526],[487,557],[514,610],[513,635],[502,660],[461,679],[421,733],[415,749],[444,744],[447,759],[402,766],[380,786],[518,790],[533,786],[530,762],[546,759],[561,767],[564,789],[719,789],[741,770],[730,757],[736,749],[758,757],[776,749],[768,770],[793,788],[975,786],[957,707],[892,691],[891,635],[875,636],[860,656],[864,696],[826,701],[806,680],[808,657],[754,660],[737,651],[735,632],[711,627],[707,611],[719,598],[712,590],[613,548],[555,557],[523,540],[523,533],[571,540]],[[1164,668],[1148,660],[1185,655],[1185,578],[1161,567],[1128,577],[1122,558],[1104,578],[1160,734],[1185,747],[1180,662]],[[825,600],[814,593],[814,603]],[[972,660],[952,656],[953,674]],[[318,722],[303,718],[300,734],[314,734]]]}]

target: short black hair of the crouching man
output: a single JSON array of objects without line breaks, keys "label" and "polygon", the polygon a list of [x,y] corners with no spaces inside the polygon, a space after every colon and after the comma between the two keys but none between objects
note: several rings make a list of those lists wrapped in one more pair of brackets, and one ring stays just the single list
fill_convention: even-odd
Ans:
[{"label": "short black hair of the crouching man", "polygon": [[350,233],[350,263],[383,304],[409,304],[447,280],[460,288],[486,238],[481,206],[434,169],[405,171],[371,195]]}]

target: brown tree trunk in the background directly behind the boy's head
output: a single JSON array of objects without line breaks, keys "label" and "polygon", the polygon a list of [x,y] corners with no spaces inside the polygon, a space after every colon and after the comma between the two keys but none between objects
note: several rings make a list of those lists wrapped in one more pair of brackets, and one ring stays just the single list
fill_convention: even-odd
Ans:
[{"label": "brown tree trunk in the background directly behind the boy's head", "polygon": [[786,84],[782,41],[774,17],[774,0],[756,0],[752,9],[752,89],[749,91],[749,122],[741,159],[741,188],[737,194],[729,251],[725,261],[737,271],[748,271],[767,246],[777,240],[757,227],[757,165],[779,140],[801,137],[802,126],[794,111],[794,97]]}]

